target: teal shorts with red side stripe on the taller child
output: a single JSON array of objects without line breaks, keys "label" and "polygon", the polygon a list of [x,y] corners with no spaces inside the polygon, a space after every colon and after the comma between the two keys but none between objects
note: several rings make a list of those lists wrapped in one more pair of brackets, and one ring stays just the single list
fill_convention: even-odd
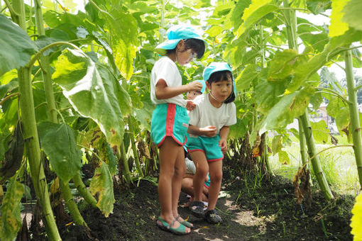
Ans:
[{"label": "teal shorts with red side stripe on the taller child", "polygon": [[178,145],[185,145],[189,116],[185,107],[175,103],[158,104],[151,120],[151,138],[160,147],[166,136],[172,137]]}]

